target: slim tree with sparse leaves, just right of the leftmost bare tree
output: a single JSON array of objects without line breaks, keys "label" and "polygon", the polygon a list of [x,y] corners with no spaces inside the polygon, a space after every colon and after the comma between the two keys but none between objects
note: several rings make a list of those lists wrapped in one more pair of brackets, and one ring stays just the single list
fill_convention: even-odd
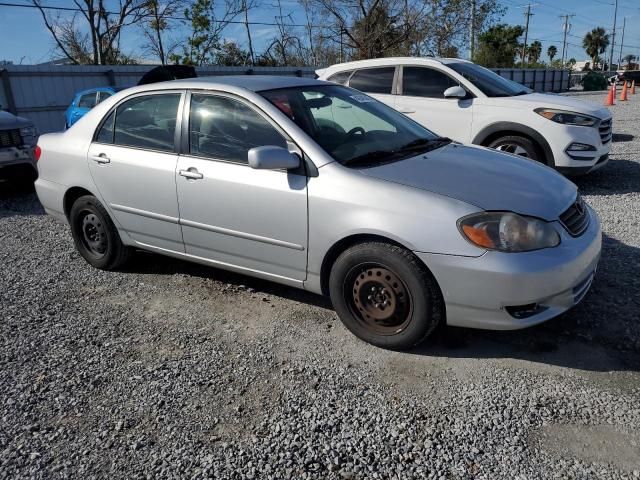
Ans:
[{"label": "slim tree with sparse leaves, just right of the leftmost bare tree", "polygon": [[184,9],[185,0],[147,1],[148,13],[142,24],[145,49],[158,57],[162,65],[166,65],[169,56],[179,45],[179,42],[166,38],[166,34],[177,23],[176,17]]}]

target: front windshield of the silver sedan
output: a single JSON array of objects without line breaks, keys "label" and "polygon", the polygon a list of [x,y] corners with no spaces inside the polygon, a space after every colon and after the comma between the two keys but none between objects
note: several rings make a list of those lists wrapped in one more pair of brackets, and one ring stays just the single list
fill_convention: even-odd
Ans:
[{"label": "front windshield of the silver sedan", "polygon": [[413,120],[339,85],[260,92],[343,165],[375,165],[449,143]]}]

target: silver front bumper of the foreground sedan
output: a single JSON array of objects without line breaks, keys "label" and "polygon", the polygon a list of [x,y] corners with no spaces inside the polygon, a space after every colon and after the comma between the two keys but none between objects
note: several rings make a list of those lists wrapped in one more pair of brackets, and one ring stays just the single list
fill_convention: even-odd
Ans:
[{"label": "silver front bumper of the foreground sedan", "polygon": [[[557,225],[561,243],[525,253],[488,251],[480,257],[419,253],[435,276],[446,307],[447,324],[515,330],[549,320],[584,298],[595,274],[602,232],[589,207],[587,230],[571,237]],[[507,307],[536,304],[540,311],[516,318]]]}]

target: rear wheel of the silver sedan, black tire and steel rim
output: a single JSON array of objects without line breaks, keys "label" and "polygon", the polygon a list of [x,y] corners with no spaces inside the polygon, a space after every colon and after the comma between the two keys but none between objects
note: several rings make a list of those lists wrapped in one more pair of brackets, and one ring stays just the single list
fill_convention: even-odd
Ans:
[{"label": "rear wheel of the silver sedan, black tire and steel rim", "polygon": [[93,195],[78,198],[71,206],[69,224],[76,249],[92,266],[117,270],[131,256],[109,214]]}]

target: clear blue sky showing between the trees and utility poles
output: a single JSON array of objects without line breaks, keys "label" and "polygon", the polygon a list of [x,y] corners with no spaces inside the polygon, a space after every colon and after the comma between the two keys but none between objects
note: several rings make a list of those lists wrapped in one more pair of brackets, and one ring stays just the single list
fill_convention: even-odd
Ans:
[{"label": "clear blue sky showing between the trees and utility poles", "polygon": [[[264,4],[275,0],[261,0]],[[500,0],[506,8],[501,23],[524,25],[526,0]],[[529,40],[539,40],[543,44],[543,59],[547,60],[546,51],[550,45],[558,49],[558,57],[562,50],[561,15],[574,15],[567,36],[567,58],[578,61],[587,60],[582,48],[585,33],[596,26],[604,27],[608,33],[613,27],[615,0],[531,0],[529,22]],[[11,60],[14,63],[37,64],[56,57],[53,40],[45,29],[40,13],[32,8],[3,6],[2,3],[28,3],[26,0],[0,0],[0,60]],[[51,6],[73,6],[71,0],[43,0],[43,4]],[[282,0],[285,14],[291,13],[296,23],[305,23],[304,11],[295,0]],[[251,21],[273,22],[275,8],[262,8],[250,13]],[[627,54],[640,56],[640,0],[618,0],[616,48],[614,60],[620,53],[623,18],[626,17],[623,57]],[[267,46],[275,36],[275,27],[252,26],[252,40],[257,51]],[[231,25],[224,36],[246,46],[244,26]],[[141,36],[136,28],[129,28],[123,34],[122,46],[125,53],[134,53],[141,43]],[[134,53],[135,54],[135,53]],[[607,56],[609,49],[607,50]],[[139,53],[138,53],[139,56]]]}]

